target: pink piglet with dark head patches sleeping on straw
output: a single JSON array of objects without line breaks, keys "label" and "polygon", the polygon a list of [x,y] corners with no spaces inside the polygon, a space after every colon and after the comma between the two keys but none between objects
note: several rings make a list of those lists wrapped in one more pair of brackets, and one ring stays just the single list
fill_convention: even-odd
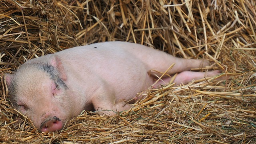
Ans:
[{"label": "pink piglet with dark head patches sleeping on straw", "polygon": [[[176,58],[165,52],[129,42],[102,42],[78,46],[29,60],[15,74],[6,74],[10,101],[42,132],[61,130],[82,110],[108,116],[129,110],[138,92],[157,79],[150,70],[180,72],[174,82],[204,78],[191,68],[208,66],[206,60]],[[210,71],[208,76],[219,74]],[[162,80],[166,84],[169,77]],[[158,82],[162,84],[164,82]]]}]

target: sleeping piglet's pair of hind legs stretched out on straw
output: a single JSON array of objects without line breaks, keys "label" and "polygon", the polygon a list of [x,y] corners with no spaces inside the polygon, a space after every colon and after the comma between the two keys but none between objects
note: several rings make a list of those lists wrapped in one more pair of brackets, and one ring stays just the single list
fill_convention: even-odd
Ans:
[{"label": "sleeping piglet's pair of hind legs stretched out on straw", "polygon": [[[202,78],[210,77],[210,76],[216,76],[220,74],[219,70],[209,71],[209,72],[191,72],[192,68],[204,68],[206,66],[209,66],[210,63],[208,60],[197,60],[197,59],[185,59],[185,58],[177,58],[170,54],[164,53],[162,51],[156,51],[151,54],[154,59],[147,60],[147,64],[151,70],[156,70],[159,72],[165,72],[170,68],[172,64],[174,66],[167,72],[169,75],[174,75],[178,73],[176,76],[174,82],[179,85],[181,83],[187,84],[188,82],[192,80],[199,80]],[[162,74],[156,74],[158,77]],[[154,76],[152,74],[152,76]],[[157,79],[157,78],[156,78]],[[162,78],[162,80],[159,80],[157,84],[155,84],[153,87],[156,88],[159,85],[165,85],[170,82],[171,78],[166,76]]]}]

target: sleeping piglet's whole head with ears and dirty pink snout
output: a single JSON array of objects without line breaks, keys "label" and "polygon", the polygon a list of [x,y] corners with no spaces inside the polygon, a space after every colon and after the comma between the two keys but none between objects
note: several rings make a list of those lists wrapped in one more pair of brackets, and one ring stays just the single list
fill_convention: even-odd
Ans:
[{"label": "sleeping piglet's whole head with ears and dirty pink snout", "polygon": [[28,116],[38,130],[60,130],[74,116],[72,93],[58,56],[50,56],[44,62],[28,61],[15,74],[5,77],[13,106]]}]

